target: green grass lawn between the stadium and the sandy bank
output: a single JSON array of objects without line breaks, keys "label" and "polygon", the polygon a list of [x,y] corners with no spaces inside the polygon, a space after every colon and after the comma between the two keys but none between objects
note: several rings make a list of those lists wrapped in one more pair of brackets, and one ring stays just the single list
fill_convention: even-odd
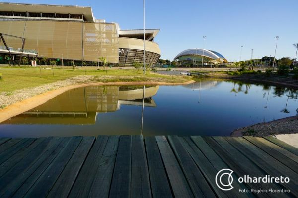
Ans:
[{"label": "green grass lawn between the stadium and the sandy bank", "polygon": [[[117,81],[161,81],[161,82],[185,82],[190,80],[184,76],[167,76],[154,74],[147,71],[143,75],[143,70],[132,69],[110,69],[96,70],[95,67],[76,68],[54,68],[54,76],[52,69],[40,68],[12,68],[0,67],[2,79],[0,80],[0,92],[11,92],[18,89],[35,87],[42,84],[52,83],[58,80],[79,76],[94,75],[98,76],[98,82],[117,82]],[[113,78],[104,78],[104,76],[113,76]],[[134,77],[134,78],[127,78]]]}]

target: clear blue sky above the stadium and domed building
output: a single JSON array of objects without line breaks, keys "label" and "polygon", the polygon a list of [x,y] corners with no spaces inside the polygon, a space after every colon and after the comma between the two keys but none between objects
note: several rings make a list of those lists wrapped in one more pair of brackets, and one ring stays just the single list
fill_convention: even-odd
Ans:
[{"label": "clear blue sky above the stadium and domed building", "polygon": [[[7,2],[7,0],[6,0]],[[91,6],[97,19],[117,22],[121,29],[143,28],[143,0],[10,0],[19,3]],[[161,58],[203,48],[229,61],[274,56],[295,57],[298,43],[298,0],[146,0],[146,28],[159,28],[155,38]]]}]

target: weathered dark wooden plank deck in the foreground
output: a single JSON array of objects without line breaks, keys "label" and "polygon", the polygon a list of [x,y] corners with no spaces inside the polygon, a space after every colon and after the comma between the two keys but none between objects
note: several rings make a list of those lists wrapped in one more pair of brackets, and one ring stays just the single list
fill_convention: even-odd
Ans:
[{"label": "weathered dark wooden plank deck in the foreground", "polygon": [[[233,189],[215,183],[229,168]],[[238,183],[238,177],[289,183]],[[239,189],[291,193],[239,193]],[[0,138],[0,198],[298,197],[298,149],[275,138],[98,136]]]}]

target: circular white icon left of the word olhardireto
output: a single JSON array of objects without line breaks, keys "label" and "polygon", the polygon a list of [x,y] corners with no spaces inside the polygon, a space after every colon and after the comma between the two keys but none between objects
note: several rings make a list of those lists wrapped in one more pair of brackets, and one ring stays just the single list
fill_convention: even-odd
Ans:
[{"label": "circular white icon left of the word olhardireto", "polygon": [[232,173],[233,172],[234,171],[232,171],[231,169],[224,168],[216,174],[215,183],[223,191],[229,191],[232,188],[234,188],[232,186],[232,183],[233,183]]}]

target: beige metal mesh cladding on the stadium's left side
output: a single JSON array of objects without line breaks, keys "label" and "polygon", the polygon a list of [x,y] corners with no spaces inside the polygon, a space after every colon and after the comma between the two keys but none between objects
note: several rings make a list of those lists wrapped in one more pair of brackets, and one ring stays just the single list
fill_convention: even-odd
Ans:
[{"label": "beige metal mesh cladding on the stadium's left side", "polygon": [[[115,24],[0,21],[0,27],[2,33],[26,38],[25,49],[36,50],[40,57],[82,60],[84,48],[86,61],[96,61],[98,54],[99,57],[106,57],[110,63],[118,63]],[[21,40],[8,38],[7,45],[20,48]]]}]

